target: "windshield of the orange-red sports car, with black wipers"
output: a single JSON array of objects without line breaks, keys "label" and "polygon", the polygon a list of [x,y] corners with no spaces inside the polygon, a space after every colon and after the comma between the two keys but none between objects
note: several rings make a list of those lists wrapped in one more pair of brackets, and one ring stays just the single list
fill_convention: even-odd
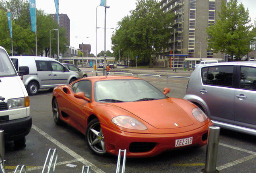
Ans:
[{"label": "windshield of the orange-red sports car, with black wipers", "polygon": [[97,102],[133,102],[167,98],[161,91],[145,80],[120,79],[102,80],[94,84]]}]

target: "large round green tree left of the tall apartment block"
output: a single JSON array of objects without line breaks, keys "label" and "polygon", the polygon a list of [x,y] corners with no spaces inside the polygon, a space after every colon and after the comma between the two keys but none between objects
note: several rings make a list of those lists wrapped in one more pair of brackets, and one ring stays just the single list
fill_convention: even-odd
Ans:
[{"label": "large round green tree left of the tall apartment block", "polygon": [[[138,56],[139,64],[152,63],[152,56],[168,46],[171,36],[168,26],[173,15],[161,10],[157,0],[137,0],[136,9],[118,22],[118,29],[112,36],[115,57]],[[117,45],[116,45],[117,44]]]}]

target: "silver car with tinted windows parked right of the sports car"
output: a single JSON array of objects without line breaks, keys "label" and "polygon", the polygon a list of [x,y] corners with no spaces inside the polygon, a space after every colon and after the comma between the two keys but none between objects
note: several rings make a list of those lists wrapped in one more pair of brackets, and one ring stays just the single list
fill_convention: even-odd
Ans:
[{"label": "silver car with tinted windows parked right of the sports car", "polygon": [[219,127],[256,135],[256,62],[221,62],[196,68],[184,99]]}]

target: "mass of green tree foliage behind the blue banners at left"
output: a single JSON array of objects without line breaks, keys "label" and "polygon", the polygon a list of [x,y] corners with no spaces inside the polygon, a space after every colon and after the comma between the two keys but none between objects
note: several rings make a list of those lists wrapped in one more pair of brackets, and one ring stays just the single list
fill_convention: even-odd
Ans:
[{"label": "mass of green tree foliage behind the blue banners at left", "polygon": [[[8,28],[6,12],[12,13],[12,38],[14,53],[35,55],[35,32],[31,31],[31,21],[29,14],[28,0],[2,0],[0,3],[0,45],[6,48],[7,52],[11,52],[11,39]],[[42,10],[37,10],[37,52],[38,55],[46,56],[50,48],[50,30],[57,29],[58,24],[49,14],[45,14]],[[57,54],[57,31],[51,32],[52,54]],[[65,36],[65,29],[59,28],[59,45],[68,44]],[[63,46],[63,52],[66,51]]]}]

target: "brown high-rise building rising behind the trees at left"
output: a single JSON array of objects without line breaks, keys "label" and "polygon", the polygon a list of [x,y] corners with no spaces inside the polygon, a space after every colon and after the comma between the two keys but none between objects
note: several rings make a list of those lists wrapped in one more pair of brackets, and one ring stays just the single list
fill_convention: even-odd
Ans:
[{"label": "brown high-rise building rising behind the trees at left", "polygon": [[[57,20],[56,14],[50,14],[54,20]],[[70,45],[70,20],[67,14],[59,14],[59,23],[62,28],[66,30],[67,45]]]}]

